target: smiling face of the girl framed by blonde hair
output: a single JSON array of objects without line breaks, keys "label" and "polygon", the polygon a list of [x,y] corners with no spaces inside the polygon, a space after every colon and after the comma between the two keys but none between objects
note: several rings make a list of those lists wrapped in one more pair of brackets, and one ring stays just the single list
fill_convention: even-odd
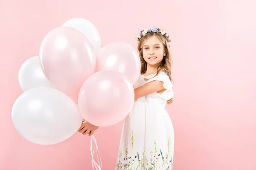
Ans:
[{"label": "smiling face of the girl framed by blonde hair", "polygon": [[145,41],[143,45],[143,58],[149,65],[157,66],[162,60],[164,52],[163,43],[156,37],[152,36]]}]

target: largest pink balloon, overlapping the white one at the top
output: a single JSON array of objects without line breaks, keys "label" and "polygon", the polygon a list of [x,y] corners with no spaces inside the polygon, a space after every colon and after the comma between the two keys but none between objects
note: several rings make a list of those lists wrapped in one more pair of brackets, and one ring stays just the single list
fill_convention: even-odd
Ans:
[{"label": "largest pink balloon, overlapping the white one at the top", "polygon": [[96,71],[90,41],[74,28],[58,27],[44,38],[39,56],[50,82],[77,103],[81,85]]}]

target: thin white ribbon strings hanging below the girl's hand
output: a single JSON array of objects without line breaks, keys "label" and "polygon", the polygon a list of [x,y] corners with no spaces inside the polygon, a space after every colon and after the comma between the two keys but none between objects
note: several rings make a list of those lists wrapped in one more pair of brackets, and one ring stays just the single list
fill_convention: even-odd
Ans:
[{"label": "thin white ribbon strings hanging below the girl's hand", "polygon": [[[93,147],[93,142],[95,143],[95,146]],[[97,159],[98,159],[98,163],[93,159],[93,154],[94,154],[94,150],[96,149],[96,155],[97,155]],[[94,167],[96,170],[101,170],[102,168],[102,160],[100,157],[100,154],[98,156],[99,153],[99,148],[96,142],[96,138],[94,135],[91,136],[91,141],[90,141],[90,151],[91,151],[91,156],[92,156],[92,167],[94,170]]]}]

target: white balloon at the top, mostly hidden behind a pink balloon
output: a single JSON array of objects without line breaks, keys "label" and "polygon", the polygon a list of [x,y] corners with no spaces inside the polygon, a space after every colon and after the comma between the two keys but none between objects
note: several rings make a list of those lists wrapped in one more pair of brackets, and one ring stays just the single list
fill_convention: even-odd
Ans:
[{"label": "white balloon at the top, mostly hidden behind a pink balloon", "polygon": [[84,18],[72,18],[67,20],[62,26],[75,28],[87,37],[93,45],[96,52],[101,49],[101,38],[97,28],[88,20]]}]

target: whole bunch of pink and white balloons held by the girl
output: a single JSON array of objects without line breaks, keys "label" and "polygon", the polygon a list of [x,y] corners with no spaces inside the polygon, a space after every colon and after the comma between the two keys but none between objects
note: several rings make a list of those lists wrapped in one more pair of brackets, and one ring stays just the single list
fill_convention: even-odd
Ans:
[{"label": "whole bunch of pink and white balloons held by the girl", "polygon": [[128,115],[140,58],[125,42],[101,47],[96,27],[73,18],[44,37],[39,55],[18,75],[23,93],[12,107],[16,130],[30,142],[56,144],[73,136],[82,119],[111,126]]}]

